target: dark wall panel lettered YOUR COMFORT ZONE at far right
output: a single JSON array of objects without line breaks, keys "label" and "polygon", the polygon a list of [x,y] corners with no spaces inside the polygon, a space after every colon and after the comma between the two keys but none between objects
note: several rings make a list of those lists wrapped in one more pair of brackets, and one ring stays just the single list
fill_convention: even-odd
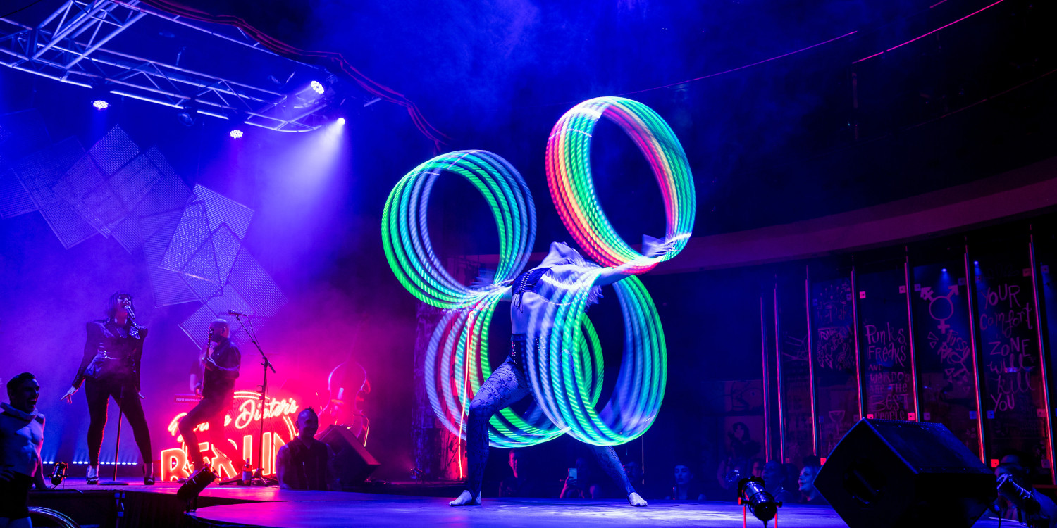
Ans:
[{"label": "dark wall panel lettered YOUR COMFORT ZONE at far right", "polygon": [[1050,469],[1050,435],[1037,314],[1023,254],[981,256],[973,264],[984,444],[991,464],[1013,451]]}]

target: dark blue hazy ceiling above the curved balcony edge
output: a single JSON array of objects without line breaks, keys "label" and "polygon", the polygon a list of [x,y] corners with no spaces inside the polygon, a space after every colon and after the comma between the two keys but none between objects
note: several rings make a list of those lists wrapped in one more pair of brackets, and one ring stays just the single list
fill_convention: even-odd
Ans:
[{"label": "dark blue hazy ceiling above the curved balcony edge", "polygon": [[[694,234],[857,209],[1057,154],[1051,2],[179,3],[300,49],[340,52],[413,100],[451,137],[445,150],[507,157],[538,204],[557,118],[577,101],[628,94],[686,148]],[[379,187],[434,153],[406,133],[405,115],[382,125],[403,138],[391,149],[406,164],[374,167]],[[606,126],[594,144],[602,204],[622,211],[616,227],[629,240],[663,228],[632,144]],[[540,219],[542,238],[563,232],[553,210]]]}]

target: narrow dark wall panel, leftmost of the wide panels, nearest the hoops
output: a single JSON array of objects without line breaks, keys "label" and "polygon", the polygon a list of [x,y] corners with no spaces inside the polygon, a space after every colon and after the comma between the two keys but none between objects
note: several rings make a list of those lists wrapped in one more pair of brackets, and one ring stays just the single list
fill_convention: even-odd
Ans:
[{"label": "narrow dark wall panel, leftmost of the wide panels, nearest the hoops", "polygon": [[800,464],[804,456],[815,454],[805,295],[802,280],[776,285],[779,438],[786,464]]}]

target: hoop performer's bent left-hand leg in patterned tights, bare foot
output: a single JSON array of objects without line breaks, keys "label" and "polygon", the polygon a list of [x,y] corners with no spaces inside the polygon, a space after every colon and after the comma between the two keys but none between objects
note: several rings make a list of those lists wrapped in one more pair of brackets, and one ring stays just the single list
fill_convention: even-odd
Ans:
[{"label": "hoop performer's bent left-hand leg in patterned tights, bare foot", "polygon": [[481,504],[481,480],[484,478],[484,465],[488,460],[488,420],[492,415],[524,398],[530,391],[528,380],[507,359],[492,372],[492,376],[488,376],[474,396],[466,423],[466,459],[469,464],[466,490],[459,498],[449,503],[451,506]]}]

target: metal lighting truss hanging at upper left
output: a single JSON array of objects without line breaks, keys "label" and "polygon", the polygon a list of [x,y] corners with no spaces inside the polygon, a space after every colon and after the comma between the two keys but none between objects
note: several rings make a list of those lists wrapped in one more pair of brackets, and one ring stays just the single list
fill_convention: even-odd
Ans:
[{"label": "metal lighting truss hanging at upper left", "polygon": [[[280,132],[307,132],[323,125],[334,91],[304,87],[284,94],[221,78],[177,63],[144,58],[105,45],[145,16],[157,17],[207,35],[292,61],[264,49],[238,30],[231,37],[189,20],[141,5],[138,0],[67,0],[36,26],[0,18],[0,64],[90,89],[109,90],[157,105],[197,111]],[[216,26],[214,26],[216,27]],[[218,42],[219,43],[219,42]],[[147,53],[146,51],[144,52]],[[301,70],[333,87],[334,76],[309,64]]]}]

